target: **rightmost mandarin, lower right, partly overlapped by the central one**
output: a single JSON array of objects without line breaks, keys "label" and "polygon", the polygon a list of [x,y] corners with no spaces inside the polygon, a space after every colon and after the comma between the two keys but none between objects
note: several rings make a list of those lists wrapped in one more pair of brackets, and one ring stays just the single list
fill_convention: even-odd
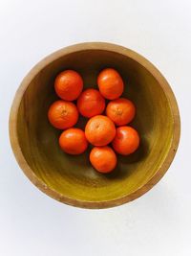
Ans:
[{"label": "rightmost mandarin, lower right, partly overlapped by the central one", "polygon": [[136,151],[139,146],[138,131],[131,127],[117,128],[117,134],[112,146],[117,153],[123,155]]}]

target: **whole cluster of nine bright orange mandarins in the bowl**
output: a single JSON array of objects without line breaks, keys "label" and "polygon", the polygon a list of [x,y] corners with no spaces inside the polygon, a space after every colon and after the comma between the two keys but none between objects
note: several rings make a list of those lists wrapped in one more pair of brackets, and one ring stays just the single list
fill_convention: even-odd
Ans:
[{"label": "whole cluster of nine bright orange mandarins in the bowl", "polygon": [[[80,154],[87,150],[90,142],[95,146],[90,152],[93,167],[100,173],[110,173],[117,165],[116,152],[128,155],[138,149],[138,131],[126,126],[134,119],[136,107],[130,100],[119,98],[124,82],[117,70],[102,70],[97,85],[98,90],[82,91],[83,80],[77,72],[61,72],[54,81],[55,92],[61,100],[50,106],[48,118],[54,128],[64,129],[59,137],[62,151]],[[105,99],[110,100],[107,106]],[[79,114],[89,118],[85,131],[74,128]],[[108,146],[110,143],[116,152]]]}]

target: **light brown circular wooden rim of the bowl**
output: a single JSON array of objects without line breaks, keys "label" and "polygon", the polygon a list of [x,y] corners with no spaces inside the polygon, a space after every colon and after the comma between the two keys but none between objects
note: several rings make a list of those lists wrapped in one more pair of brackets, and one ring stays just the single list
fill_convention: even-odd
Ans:
[{"label": "light brown circular wooden rim of the bowl", "polygon": [[[74,52],[87,51],[87,50],[102,50],[102,51],[115,52],[125,57],[134,59],[144,68],[146,68],[154,76],[154,78],[159,82],[159,85],[164,91],[165,96],[167,97],[168,103],[170,105],[171,112],[173,115],[173,121],[174,121],[172,143],[169,148],[169,151],[165,156],[165,159],[162,165],[159,167],[158,172],[155,175],[153,175],[146,184],[140,186],[138,190],[136,190],[135,192],[129,195],[123,196],[121,198],[115,198],[115,199],[104,200],[104,201],[88,201],[88,200],[68,198],[58,193],[57,191],[53,190],[52,188],[48,187],[47,184],[45,184],[32,172],[31,167],[28,165],[19,145],[17,128],[16,128],[17,113],[18,113],[20,102],[22,100],[22,97],[28,85],[31,83],[34,76],[36,76],[40,70],[46,67],[53,60],[57,58],[61,58],[63,55],[68,55]],[[175,98],[175,95],[169,83],[165,80],[165,78],[161,75],[159,70],[148,59],[140,56],[138,53],[136,53],[133,50],[130,50],[126,47],[123,47],[117,44],[108,43],[108,42],[84,42],[84,43],[78,43],[71,46],[67,46],[56,52],[53,52],[53,54],[49,55],[46,58],[43,58],[36,65],[33,66],[32,70],[23,79],[23,81],[21,82],[20,86],[18,87],[15,93],[15,96],[11,105],[9,131],[10,131],[11,149],[15,155],[15,158],[20,168],[23,170],[24,174],[27,175],[27,177],[32,181],[32,183],[38,189],[40,189],[42,192],[44,192],[48,196],[69,205],[73,205],[81,208],[89,208],[89,209],[102,209],[102,208],[109,208],[109,207],[121,205],[123,203],[139,198],[140,196],[145,194],[147,191],[149,191],[151,188],[153,188],[153,186],[156,183],[159,182],[160,178],[167,172],[168,168],[170,167],[175,157],[176,151],[178,150],[178,147],[179,147],[180,112],[179,112],[177,100]]]}]

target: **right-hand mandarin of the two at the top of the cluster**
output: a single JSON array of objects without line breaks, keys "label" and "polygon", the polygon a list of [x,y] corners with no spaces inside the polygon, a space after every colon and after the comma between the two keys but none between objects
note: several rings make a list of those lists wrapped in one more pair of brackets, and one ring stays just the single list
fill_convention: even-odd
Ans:
[{"label": "right-hand mandarin of the two at the top of the cluster", "polygon": [[100,93],[108,100],[115,100],[120,97],[124,89],[120,75],[113,68],[102,70],[97,77],[97,84]]}]

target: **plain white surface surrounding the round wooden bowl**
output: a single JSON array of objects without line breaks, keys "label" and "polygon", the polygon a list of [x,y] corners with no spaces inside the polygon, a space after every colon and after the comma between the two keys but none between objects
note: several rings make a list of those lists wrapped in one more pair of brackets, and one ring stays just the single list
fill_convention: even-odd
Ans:
[{"label": "plain white surface surrounding the round wooden bowl", "polygon": [[[108,41],[151,60],[180,106],[180,148],[145,196],[107,210],[59,203],[32,185],[11,152],[8,120],[20,81],[41,58]],[[0,0],[0,255],[191,255],[191,1]]]}]

